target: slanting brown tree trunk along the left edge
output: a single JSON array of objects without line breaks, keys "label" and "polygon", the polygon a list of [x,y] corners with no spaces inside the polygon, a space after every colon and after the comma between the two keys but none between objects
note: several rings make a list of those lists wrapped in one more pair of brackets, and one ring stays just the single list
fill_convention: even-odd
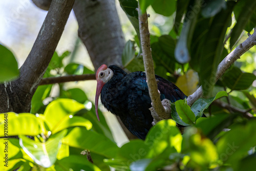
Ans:
[{"label": "slanting brown tree trunk along the left edge", "polygon": [[19,70],[19,78],[0,84],[0,113],[30,111],[33,94],[49,65],[73,4],[74,0],[52,1],[32,50]]}]

